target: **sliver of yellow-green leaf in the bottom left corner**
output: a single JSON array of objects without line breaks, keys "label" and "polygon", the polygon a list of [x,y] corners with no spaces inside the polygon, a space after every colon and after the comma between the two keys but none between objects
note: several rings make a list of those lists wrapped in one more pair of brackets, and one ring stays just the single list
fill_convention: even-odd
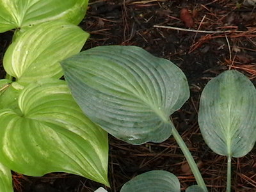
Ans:
[{"label": "sliver of yellow-green leaf in the bottom left corner", "polygon": [[12,173],[9,168],[6,168],[0,163],[0,191],[12,192]]}]

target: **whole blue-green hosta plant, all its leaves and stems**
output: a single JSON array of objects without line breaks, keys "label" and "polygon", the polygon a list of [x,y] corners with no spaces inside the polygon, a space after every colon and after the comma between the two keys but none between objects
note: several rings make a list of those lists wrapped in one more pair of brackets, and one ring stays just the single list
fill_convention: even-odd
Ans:
[{"label": "whole blue-green hosta plant, all its leaves and stems", "polygon": [[[198,186],[204,180],[170,115],[189,97],[182,71],[168,60],[139,47],[95,47],[61,61],[65,79],[77,104],[110,134],[134,145],[162,142],[172,134],[186,157]],[[256,141],[256,90],[243,74],[230,70],[212,79],[200,100],[199,125],[214,152],[228,157],[227,191],[230,191],[231,157],[246,155]],[[179,180],[169,172],[149,172],[125,184],[126,191],[180,191]]]}]

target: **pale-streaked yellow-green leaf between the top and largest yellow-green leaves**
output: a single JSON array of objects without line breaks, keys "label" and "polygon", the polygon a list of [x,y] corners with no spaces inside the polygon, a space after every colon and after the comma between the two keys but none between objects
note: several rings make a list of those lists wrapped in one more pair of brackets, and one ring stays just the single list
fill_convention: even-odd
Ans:
[{"label": "pale-streaked yellow-green leaf between the top and largest yellow-green leaves", "polygon": [[88,33],[65,21],[38,24],[22,33],[4,54],[4,69],[20,84],[60,78],[59,61],[78,53]]}]

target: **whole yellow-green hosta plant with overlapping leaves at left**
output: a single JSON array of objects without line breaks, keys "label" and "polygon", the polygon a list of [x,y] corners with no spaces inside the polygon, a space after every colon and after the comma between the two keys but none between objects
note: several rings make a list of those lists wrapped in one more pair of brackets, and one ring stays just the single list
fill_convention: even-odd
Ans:
[{"label": "whole yellow-green hosta plant with overlapping leaves at left", "polygon": [[87,0],[0,1],[0,31],[16,29],[0,80],[0,191],[11,170],[42,176],[68,172],[109,185],[108,135],[72,98],[60,61],[78,53],[88,33],[75,26]]}]

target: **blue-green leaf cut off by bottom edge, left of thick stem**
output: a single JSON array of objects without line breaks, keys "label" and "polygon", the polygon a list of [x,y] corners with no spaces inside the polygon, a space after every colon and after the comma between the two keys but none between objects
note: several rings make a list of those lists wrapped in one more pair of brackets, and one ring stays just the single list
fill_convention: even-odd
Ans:
[{"label": "blue-green leaf cut off by bottom edge, left of thick stem", "polygon": [[166,171],[150,171],[124,184],[120,192],[180,192],[179,179]]}]

